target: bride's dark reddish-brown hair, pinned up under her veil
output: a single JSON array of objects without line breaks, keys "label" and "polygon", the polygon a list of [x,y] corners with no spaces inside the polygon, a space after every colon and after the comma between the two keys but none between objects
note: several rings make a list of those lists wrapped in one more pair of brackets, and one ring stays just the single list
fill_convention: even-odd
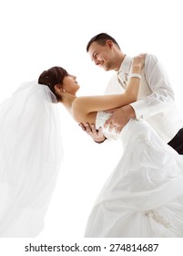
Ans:
[{"label": "bride's dark reddish-brown hair, pinned up under her veil", "polygon": [[38,79],[39,84],[44,84],[56,95],[57,101],[62,101],[62,97],[56,93],[55,85],[62,85],[64,78],[68,76],[66,69],[53,67],[41,73]]}]

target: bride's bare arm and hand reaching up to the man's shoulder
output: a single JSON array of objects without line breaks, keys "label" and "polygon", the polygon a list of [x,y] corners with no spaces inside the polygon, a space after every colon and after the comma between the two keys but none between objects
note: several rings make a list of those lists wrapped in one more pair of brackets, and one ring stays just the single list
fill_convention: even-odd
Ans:
[{"label": "bride's bare arm and hand reaching up to the man's shoulder", "polygon": [[[138,56],[134,59],[132,73],[141,74],[141,70],[144,66],[144,59],[144,55]],[[80,123],[91,112],[107,111],[109,109],[115,109],[137,101],[139,83],[139,78],[131,77],[127,90],[124,93],[77,97],[76,100],[73,101],[72,105],[74,118]]]}]

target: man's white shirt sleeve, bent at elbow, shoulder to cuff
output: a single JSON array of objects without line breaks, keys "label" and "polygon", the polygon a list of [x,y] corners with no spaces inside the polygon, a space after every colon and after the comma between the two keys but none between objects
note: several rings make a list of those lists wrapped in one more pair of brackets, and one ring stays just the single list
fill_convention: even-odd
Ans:
[{"label": "man's white shirt sleeve, bent at elbow, shoulder to cuff", "polygon": [[146,120],[159,112],[166,111],[171,108],[172,104],[175,104],[175,95],[171,89],[168,75],[154,55],[147,55],[144,73],[152,93],[145,99],[130,104],[136,112],[138,120]]}]

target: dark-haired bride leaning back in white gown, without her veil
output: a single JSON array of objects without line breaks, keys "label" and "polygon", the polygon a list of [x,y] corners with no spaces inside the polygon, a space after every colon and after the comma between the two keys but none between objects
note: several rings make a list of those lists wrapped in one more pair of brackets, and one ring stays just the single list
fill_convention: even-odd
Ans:
[{"label": "dark-haired bride leaning back in white gown, without her veil", "polygon": [[183,237],[183,157],[146,122],[131,119],[121,133],[104,127],[108,109],[137,100],[144,59],[134,59],[123,94],[76,97],[76,77],[57,67],[38,80],[56,93],[77,123],[96,123],[108,139],[119,138],[123,144],[124,153],[88,218],[85,237]]}]

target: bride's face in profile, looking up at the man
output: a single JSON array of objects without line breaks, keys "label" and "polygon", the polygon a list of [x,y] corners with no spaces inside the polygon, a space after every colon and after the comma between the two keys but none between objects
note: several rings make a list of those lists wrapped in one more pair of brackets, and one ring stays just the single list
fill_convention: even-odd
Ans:
[{"label": "bride's face in profile, looking up at the man", "polygon": [[68,75],[64,78],[62,83],[63,90],[66,92],[76,95],[76,91],[79,90],[80,86],[76,81],[76,76]]}]

